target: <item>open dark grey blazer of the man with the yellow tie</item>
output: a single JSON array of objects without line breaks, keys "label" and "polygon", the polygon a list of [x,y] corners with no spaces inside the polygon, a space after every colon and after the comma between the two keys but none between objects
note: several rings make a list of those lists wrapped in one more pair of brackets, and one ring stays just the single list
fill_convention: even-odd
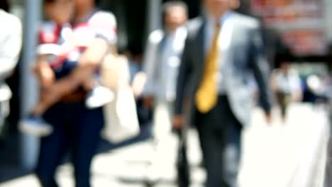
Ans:
[{"label": "open dark grey blazer of the man with the yellow tie", "polygon": [[[233,13],[231,42],[223,55],[227,61],[223,75],[225,91],[231,110],[239,122],[247,126],[254,106],[250,80],[254,77],[260,93],[260,104],[270,112],[270,91],[267,86],[269,68],[264,54],[260,23],[249,16]],[[177,79],[175,114],[184,113],[184,100],[189,98],[189,119],[194,119],[194,95],[204,72],[204,25],[206,18],[199,17],[188,23],[188,36],[184,45],[182,63]],[[189,97],[187,97],[189,96]],[[186,99],[184,99],[186,98]],[[186,101],[187,103],[187,101]],[[192,124],[193,121],[189,120]]]}]

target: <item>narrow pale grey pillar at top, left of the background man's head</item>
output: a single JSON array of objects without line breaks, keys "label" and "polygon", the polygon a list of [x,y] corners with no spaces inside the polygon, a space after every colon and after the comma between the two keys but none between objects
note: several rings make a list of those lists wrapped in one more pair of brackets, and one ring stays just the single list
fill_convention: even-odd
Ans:
[{"label": "narrow pale grey pillar at top, left of the background man's head", "polygon": [[162,25],[162,0],[148,0],[148,28],[146,34],[148,35],[153,30],[161,28]]}]

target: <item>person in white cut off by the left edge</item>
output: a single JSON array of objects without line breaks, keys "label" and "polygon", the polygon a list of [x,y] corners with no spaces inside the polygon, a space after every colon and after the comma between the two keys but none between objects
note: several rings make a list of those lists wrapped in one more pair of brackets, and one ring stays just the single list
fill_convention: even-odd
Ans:
[{"label": "person in white cut off by the left edge", "polygon": [[5,83],[18,62],[22,44],[21,21],[9,11],[9,1],[0,2],[0,137],[5,119],[9,115],[11,90]]}]

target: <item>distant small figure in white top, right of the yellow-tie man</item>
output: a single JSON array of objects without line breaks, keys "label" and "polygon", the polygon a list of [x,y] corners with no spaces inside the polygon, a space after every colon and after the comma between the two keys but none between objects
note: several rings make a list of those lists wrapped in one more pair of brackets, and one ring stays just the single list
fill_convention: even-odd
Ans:
[{"label": "distant small figure in white top, right of the yellow-tie man", "polygon": [[289,104],[302,100],[301,79],[289,62],[281,62],[280,68],[272,72],[271,86],[280,107],[282,120],[285,122]]}]

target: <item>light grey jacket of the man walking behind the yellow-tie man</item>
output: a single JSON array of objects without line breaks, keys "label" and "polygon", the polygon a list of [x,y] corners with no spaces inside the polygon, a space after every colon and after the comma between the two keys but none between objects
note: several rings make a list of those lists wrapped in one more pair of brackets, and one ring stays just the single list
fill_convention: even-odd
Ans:
[{"label": "light grey jacket of the man walking behind the yellow-tie man", "polygon": [[[161,60],[162,42],[165,40],[163,30],[153,31],[148,38],[148,44],[143,59],[143,71],[147,74],[147,82],[143,89],[143,96],[155,96],[165,98],[166,101],[175,101],[175,90],[179,64],[181,62],[184,40],[187,37],[187,28],[178,28],[175,39],[170,46],[169,52]],[[162,62],[167,62],[162,64]],[[161,72],[162,71],[162,72]],[[162,75],[167,75],[167,79],[160,81]]]}]

